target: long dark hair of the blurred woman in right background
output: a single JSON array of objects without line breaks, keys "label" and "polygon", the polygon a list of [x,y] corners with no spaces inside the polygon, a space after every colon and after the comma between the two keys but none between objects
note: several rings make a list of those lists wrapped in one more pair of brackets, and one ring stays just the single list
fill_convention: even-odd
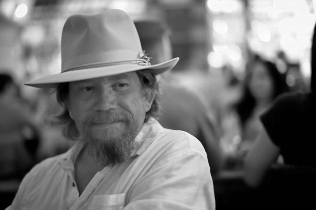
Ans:
[{"label": "long dark hair of the blurred woman in right background", "polygon": [[[286,85],[286,81],[285,81],[285,75],[281,74],[277,70],[275,63],[268,60],[264,60],[260,58],[259,56],[255,56],[254,61],[251,62],[251,64],[249,65],[249,68],[251,68],[251,66],[256,62],[261,62],[266,67],[269,75],[272,78],[273,91],[274,91],[272,99],[275,99],[276,96],[278,96],[279,94],[288,91],[288,86]],[[247,76],[245,78],[245,86],[244,86],[243,94],[241,96],[241,99],[236,104],[236,111],[239,116],[241,126],[243,126],[244,123],[250,118],[253,112],[253,109],[256,106],[256,100],[252,96],[249,90],[249,86],[247,85],[250,79],[250,75],[251,75],[251,69],[247,69]]]}]

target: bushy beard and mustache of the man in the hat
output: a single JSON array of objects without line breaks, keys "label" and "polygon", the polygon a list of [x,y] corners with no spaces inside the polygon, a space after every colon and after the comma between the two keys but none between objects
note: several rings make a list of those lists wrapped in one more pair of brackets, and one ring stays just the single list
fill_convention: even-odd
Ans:
[{"label": "bushy beard and mustache of the man in the hat", "polygon": [[[127,124],[121,136],[116,135],[114,129],[101,129],[96,137],[91,129],[93,123],[122,121]],[[91,155],[99,164],[114,166],[122,163],[130,157],[136,148],[135,137],[141,129],[141,123],[137,123],[129,113],[102,112],[88,116],[83,122],[83,142]]]}]

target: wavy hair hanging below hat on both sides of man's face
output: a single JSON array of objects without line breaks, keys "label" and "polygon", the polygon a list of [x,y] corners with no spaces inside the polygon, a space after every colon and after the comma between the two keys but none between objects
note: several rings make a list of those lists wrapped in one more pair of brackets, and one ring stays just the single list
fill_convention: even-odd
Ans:
[{"label": "wavy hair hanging below hat on both sides of man's face", "polygon": [[[150,93],[154,94],[154,100],[152,106],[148,112],[146,112],[145,120],[146,123],[149,118],[158,118],[160,115],[160,90],[157,81],[157,77],[150,71],[143,69],[136,71],[138,78],[140,79],[143,93],[147,97]],[[65,106],[65,101],[69,96],[69,83],[60,83],[56,89],[56,97],[59,104],[64,107],[63,112],[57,116],[57,119],[61,124],[64,124],[63,134],[65,137],[76,140],[79,136],[79,131],[76,127],[75,121],[70,117],[69,111]]]}]

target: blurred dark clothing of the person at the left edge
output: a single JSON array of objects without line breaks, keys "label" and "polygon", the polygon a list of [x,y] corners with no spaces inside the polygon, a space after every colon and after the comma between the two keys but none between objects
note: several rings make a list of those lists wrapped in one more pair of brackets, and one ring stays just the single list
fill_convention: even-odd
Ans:
[{"label": "blurred dark clothing of the person at the left edge", "polygon": [[0,102],[0,180],[22,179],[36,163],[38,144],[26,113],[15,104]]}]

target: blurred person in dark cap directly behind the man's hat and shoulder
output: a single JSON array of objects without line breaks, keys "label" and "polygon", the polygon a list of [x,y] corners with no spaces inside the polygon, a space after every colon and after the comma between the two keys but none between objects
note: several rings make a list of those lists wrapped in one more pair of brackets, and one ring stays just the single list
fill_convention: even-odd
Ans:
[{"label": "blurred person in dark cap directly behind the man's hat and shoulder", "polygon": [[[172,58],[170,30],[164,23],[158,20],[136,20],[134,23],[152,64]],[[202,94],[197,95],[177,80],[170,71],[160,75],[162,95],[158,121],[164,128],[183,130],[197,137],[207,153],[211,172],[215,174],[223,160],[215,117]]]}]

